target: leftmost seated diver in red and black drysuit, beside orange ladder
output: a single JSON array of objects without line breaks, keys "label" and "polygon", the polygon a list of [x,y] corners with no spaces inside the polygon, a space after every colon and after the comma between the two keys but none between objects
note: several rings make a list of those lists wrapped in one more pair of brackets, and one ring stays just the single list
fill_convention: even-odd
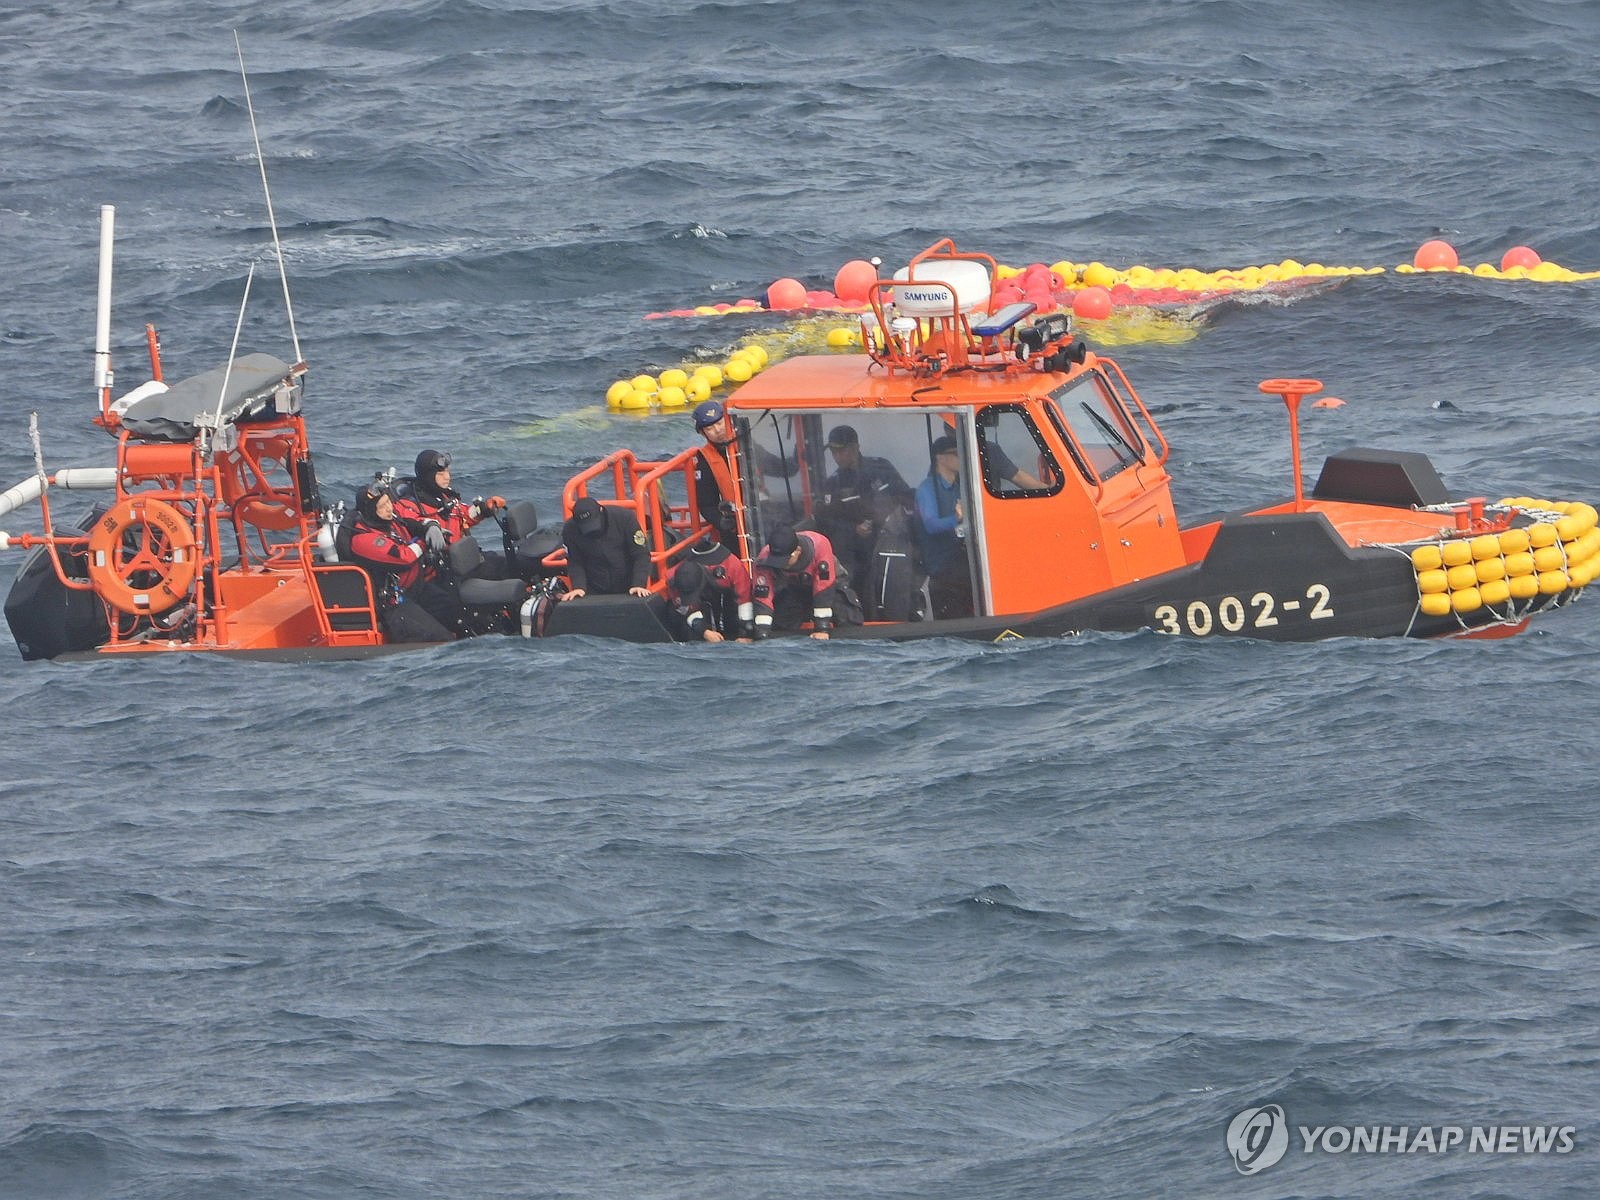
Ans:
[{"label": "leftmost seated diver in red and black drysuit, beside orange ladder", "polygon": [[395,515],[394,488],[368,483],[355,493],[350,557],[373,576],[378,619],[390,642],[451,642],[448,594],[430,578],[448,534],[437,522]]}]

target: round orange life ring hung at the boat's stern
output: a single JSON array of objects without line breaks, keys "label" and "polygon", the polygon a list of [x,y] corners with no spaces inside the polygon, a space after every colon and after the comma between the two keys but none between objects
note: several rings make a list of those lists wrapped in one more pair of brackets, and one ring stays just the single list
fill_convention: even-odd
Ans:
[{"label": "round orange life ring hung at the boat's stern", "polygon": [[90,582],[112,608],[165,613],[194,587],[195,531],[171,504],[126,496],[90,530]]}]

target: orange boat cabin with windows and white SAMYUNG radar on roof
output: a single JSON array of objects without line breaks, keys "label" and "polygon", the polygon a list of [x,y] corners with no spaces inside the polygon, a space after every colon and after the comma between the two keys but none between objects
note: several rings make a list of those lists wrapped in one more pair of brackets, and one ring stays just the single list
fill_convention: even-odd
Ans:
[{"label": "orange boat cabin with windows and white SAMYUNG radar on roof", "polygon": [[[789,358],[734,392],[730,458],[747,560],[779,525],[821,531],[851,570],[867,621],[890,622],[1034,613],[1184,563],[1155,419],[1064,315],[1038,317],[1030,304],[979,312],[995,270],[986,254],[938,243],[878,282],[862,315],[864,354]],[[954,448],[942,470],[939,448]],[[640,501],[646,528],[666,526],[659,578],[670,574],[675,541],[715,514],[686,499],[693,486],[669,499],[638,488],[691,474],[698,453],[638,464],[619,490],[621,502]],[[576,477],[568,506],[610,466]],[[869,494],[840,486],[862,475]],[[957,510],[954,539],[928,528],[930,515],[941,525]],[[918,597],[930,557],[946,560],[946,574],[965,568],[966,611],[934,611]],[[906,571],[896,578],[898,558]]]}]

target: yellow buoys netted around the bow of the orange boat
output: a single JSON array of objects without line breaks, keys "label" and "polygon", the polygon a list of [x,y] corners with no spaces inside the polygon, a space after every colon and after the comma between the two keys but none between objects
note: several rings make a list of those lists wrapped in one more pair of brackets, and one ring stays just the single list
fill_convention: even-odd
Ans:
[{"label": "yellow buoys netted around the bow of the orange boat", "polygon": [[1426,616],[1499,610],[1512,600],[1587,587],[1600,576],[1600,512],[1592,504],[1514,496],[1499,507],[1517,509],[1533,523],[1411,547]]}]

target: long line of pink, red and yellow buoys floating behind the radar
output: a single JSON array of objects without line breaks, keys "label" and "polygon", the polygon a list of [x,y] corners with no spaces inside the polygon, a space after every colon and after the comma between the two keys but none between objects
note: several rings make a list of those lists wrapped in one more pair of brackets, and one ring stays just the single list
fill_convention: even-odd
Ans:
[{"label": "long line of pink, red and yellow buoys floating behind the radar", "polygon": [[[1392,269],[1403,275],[1450,272],[1478,278],[1531,280],[1534,283],[1576,283],[1600,278],[1600,270],[1578,272],[1555,262],[1546,262],[1531,246],[1512,246],[1501,254],[1499,266],[1478,262],[1467,267],[1461,264],[1456,248],[1442,238],[1424,242],[1410,262],[1395,264]],[[1232,293],[1274,291],[1317,280],[1382,275],[1386,270],[1390,267],[1338,267],[1301,262],[1293,258],[1221,270],[1147,266],[1118,269],[1099,261],[1072,262],[1067,259],[1053,264],[1030,262],[1026,267],[998,264],[990,309],[1014,301],[1030,301],[1040,312],[1070,310],[1083,320],[1106,320],[1115,309],[1123,307],[1195,304]],[[859,312],[867,307],[867,293],[877,278],[877,264],[851,259],[835,272],[832,290],[806,288],[798,278],[784,277],[773,280],[763,301],[742,298],[733,304],[702,304],[691,309],[651,312],[648,317],[714,317],[731,312],[803,312],[808,309]]]}]

